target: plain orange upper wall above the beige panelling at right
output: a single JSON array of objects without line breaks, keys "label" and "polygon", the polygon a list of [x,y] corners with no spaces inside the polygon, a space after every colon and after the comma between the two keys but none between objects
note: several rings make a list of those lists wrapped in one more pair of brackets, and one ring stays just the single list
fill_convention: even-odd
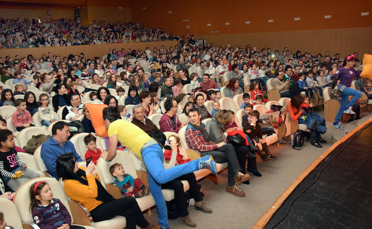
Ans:
[{"label": "plain orange upper wall above the beige panelling at right", "polygon": [[[131,4],[132,22],[140,20],[150,28],[160,26],[167,33],[195,36],[275,31],[342,29],[372,26],[371,0],[309,2],[289,1],[138,1]],[[146,9],[143,9],[146,8]],[[171,13],[169,13],[171,11]],[[369,12],[369,16],[360,16]],[[331,15],[330,19],[324,19]],[[300,17],[295,21],[295,17]],[[183,21],[189,20],[189,21]],[[273,20],[269,23],[268,20]],[[250,21],[250,24],[246,24]],[[230,23],[225,25],[225,23]],[[211,26],[207,26],[211,24]],[[186,29],[190,26],[190,29]],[[211,31],[218,31],[212,33]],[[345,34],[349,36],[350,34]],[[314,33],[312,36],[317,37]],[[331,39],[332,34],[329,34]],[[327,37],[323,37],[326,39]],[[234,37],[231,37],[234,39]],[[304,38],[305,39],[305,38]],[[322,39],[322,37],[319,37]]]}]

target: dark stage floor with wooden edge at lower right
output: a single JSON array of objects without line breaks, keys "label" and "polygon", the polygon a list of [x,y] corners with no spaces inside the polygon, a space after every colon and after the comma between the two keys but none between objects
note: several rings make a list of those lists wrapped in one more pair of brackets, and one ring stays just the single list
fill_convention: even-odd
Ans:
[{"label": "dark stage floor with wooden edge at lower right", "polygon": [[[328,162],[314,185],[305,190]],[[276,225],[302,192],[288,215]],[[369,123],[315,167],[285,200],[265,228],[276,225],[275,229],[369,229],[372,228],[371,205],[372,123]]]}]

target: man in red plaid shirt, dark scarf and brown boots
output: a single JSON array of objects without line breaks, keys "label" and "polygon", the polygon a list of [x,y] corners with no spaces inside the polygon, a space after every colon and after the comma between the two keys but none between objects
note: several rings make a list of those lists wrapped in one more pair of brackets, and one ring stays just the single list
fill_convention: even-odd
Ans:
[{"label": "man in red plaid shirt, dark scarf and brown boots", "polygon": [[229,143],[220,142],[210,143],[209,134],[204,123],[200,122],[201,115],[199,110],[192,108],[189,110],[189,125],[186,128],[186,143],[191,149],[195,149],[202,156],[211,155],[216,163],[227,162],[228,185],[226,192],[235,196],[244,196],[237,184],[249,179],[248,174],[241,173],[238,158],[234,147]]}]

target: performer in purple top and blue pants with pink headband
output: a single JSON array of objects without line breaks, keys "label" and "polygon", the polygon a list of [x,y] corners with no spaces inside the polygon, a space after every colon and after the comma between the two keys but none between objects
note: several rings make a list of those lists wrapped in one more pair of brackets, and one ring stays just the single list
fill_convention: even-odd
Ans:
[{"label": "performer in purple top and blue pants with pink headband", "polygon": [[[362,93],[360,91],[357,91],[355,89],[350,88],[352,81],[356,77],[357,79],[360,78],[360,73],[362,70],[359,72],[356,72],[354,69],[354,63],[355,63],[355,56],[354,55],[349,55],[345,58],[342,67],[337,70],[336,68],[333,69],[333,76],[331,76],[331,80],[338,79],[340,80],[339,86],[337,87],[337,91],[340,94],[340,99],[341,99],[341,106],[339,111],[337,112],[336,118],[334,119],[334,123],[332,126],[336,127],[337,129],[344,129],[343,127],[340,126],[340,120],[342,117],[343,113],[347,114],[355,114],[353,112],[353,106],[357,102],[357,100],[362,97]],[[363,66],[362,66],[363,67]],[[349,103],[347,101],[349,100],[349,96],[353,96],[353,98],[350,100]]]}]

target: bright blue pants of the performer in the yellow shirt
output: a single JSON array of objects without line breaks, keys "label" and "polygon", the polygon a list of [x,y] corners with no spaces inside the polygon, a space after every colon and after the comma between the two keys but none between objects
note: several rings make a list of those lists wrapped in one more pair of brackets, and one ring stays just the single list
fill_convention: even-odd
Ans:
[{"label": "bright blue pants of the performer in the yellow shirt", "polygon": [[164,154],[159,145],[148,146],[142,150],[141,154],[148,170],[148,183],[158,210],[159,224],[167,227],[169,226],[168,211],[163,192],[161,192],[161,184],[176,179],[181,175],[195,172],[198,170],[198,162],[191,160],[185,164],[165,170],[163,165]]}]

